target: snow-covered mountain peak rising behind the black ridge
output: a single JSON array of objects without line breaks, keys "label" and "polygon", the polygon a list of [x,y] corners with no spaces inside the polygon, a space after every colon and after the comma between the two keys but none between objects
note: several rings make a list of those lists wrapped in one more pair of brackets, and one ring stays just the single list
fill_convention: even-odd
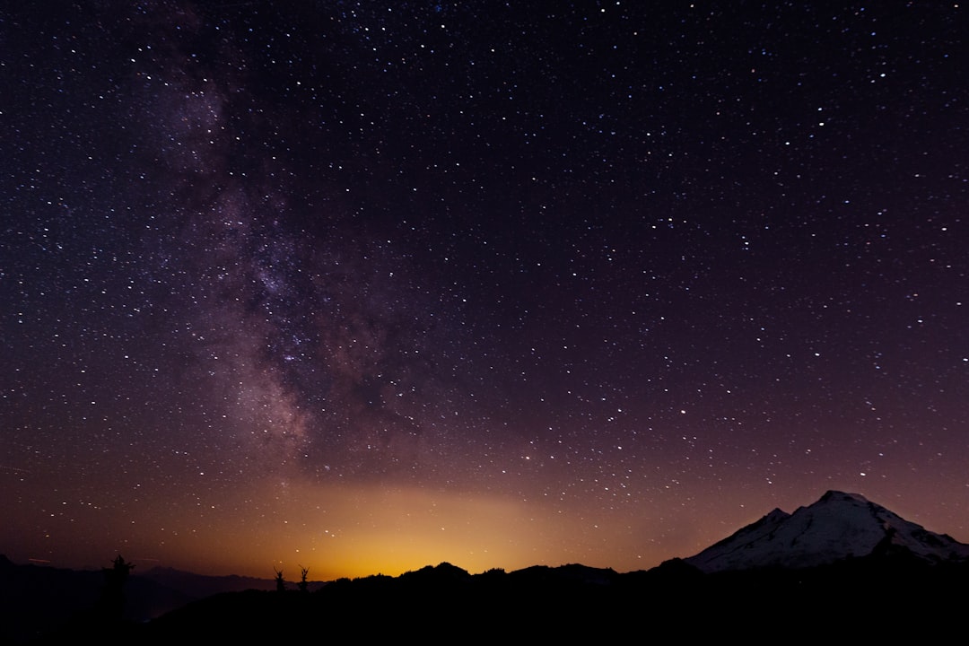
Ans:
[{"label": "snow-covered mountain peak rising behind the black ridge", "polygon": [[905,552],[932,563],[965,560],[969,544],[929,532],[858,494],[828,491],[794,513],[774,509],[684,560],[706,572],[797,569]]}]

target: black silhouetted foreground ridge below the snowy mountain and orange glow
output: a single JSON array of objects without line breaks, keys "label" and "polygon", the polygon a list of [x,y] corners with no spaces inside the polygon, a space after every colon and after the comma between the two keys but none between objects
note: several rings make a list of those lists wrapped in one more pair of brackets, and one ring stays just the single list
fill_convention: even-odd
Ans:
[{"label": "black silhouetted foreground ridge below the snowy mountain and orange glow", "polygon": [[269,643],[419,638],[459,643],[739,637],[749,642],[961,631],[965,564],[860,558],[803,570],[703,574],[682,561],[618,574],[583,566],[471,575],[449,564],[315,592],[224,593],[150,622],[81,613],[36,643]]}]

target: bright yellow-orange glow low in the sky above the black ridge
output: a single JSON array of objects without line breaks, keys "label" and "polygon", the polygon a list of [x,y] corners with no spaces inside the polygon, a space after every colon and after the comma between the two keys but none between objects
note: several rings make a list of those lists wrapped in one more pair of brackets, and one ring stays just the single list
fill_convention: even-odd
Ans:
[{"label": "bright yellow-orange glow low in the sky above the black ridge", "polygon": [[[162,565],[260,578],[282,569],[296,581],[300,568],[309,569],[311,580],[332,580],[396,576],[442,562],[477,573],[566,563],[622,571],[626,564],[641,569],[661,560],[630,557],[636,553],[632,536],[618,545],[580,538],[586,525],[602,519],[510,495],[292,481],[284,489],[258,521],[251,509],[240,508],[220,516],[218,530],[170,539]],[[306,501],[320,504],[308,507]],[[603,527],[604,537],[614,535],[614,528]]]}]

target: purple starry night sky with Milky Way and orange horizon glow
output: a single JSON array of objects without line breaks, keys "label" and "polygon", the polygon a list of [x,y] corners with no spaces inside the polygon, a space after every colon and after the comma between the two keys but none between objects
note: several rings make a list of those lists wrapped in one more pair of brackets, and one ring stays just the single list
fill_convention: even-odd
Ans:
[{"label": "purple starry night sky with Milky Way and orange horizon glow", "polygon": [[271,578],[969,541],[953,2],[7,3],[0,553]]}]

